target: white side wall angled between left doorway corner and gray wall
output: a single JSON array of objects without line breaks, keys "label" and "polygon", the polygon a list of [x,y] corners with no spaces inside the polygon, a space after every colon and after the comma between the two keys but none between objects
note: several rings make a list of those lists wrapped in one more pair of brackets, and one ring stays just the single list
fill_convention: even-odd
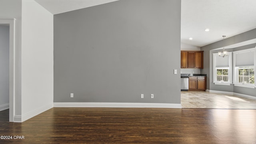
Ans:
[{"label": "white side wall angled between left doorway corner and gray wall", "polygon": [[22,116],[53,107],[53,15],[34,0],[22,0]]}]

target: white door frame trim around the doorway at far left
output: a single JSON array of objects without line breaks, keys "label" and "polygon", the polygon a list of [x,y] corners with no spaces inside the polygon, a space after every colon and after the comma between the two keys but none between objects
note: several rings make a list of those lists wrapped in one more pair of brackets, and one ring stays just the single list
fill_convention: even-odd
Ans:
[{"label": "white door frame trim around the doorway at far left", "polygon": [[9,25],[9,121],[14,122],[14,101],[15,101],[15,18],[14,19],[0,19],[0,24]]}]

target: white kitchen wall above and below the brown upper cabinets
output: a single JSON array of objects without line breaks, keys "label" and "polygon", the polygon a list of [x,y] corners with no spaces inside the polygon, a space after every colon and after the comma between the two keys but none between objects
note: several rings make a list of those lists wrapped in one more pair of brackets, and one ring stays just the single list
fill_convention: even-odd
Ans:
[{"label": "white kitchen wall above and below the brown upper cabinets", "polygon": [[[189,45],[186,43],[180,43],[180,50],[182,51],[200,51],[200,47]],[[180,69],[180,73],[198,73],[200,74],[200,69]]]}]

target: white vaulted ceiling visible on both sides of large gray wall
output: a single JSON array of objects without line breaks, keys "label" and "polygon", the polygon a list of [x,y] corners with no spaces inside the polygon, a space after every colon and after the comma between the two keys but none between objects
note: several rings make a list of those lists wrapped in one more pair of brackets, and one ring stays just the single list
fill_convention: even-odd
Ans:
[{"label": "white vaulted ceiling visible on both sides of large gray wall", "polygon": [[[52,14],[117,0],[35,0]],[[202,47],[256,28],[256,0],[181,0],[181,42]],[[208,28],[210,31],[205,32]],[[192,37],[192,40],[189,38]]]}]

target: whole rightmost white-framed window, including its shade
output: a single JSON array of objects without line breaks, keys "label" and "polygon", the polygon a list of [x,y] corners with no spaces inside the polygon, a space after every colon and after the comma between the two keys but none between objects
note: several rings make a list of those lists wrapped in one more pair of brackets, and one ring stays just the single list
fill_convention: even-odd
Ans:
[{"label": "whole rightmost white-framed window, including its shade", "polygon": [[234,51],[234,85],[255,88],[255,48]]}]

